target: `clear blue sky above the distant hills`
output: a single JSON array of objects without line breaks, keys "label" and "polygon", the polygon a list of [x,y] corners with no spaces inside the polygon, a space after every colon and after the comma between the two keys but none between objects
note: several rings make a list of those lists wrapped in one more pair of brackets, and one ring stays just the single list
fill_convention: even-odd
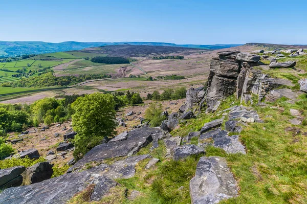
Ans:
[{"label": "clear blue sky above the distant hills", "polygon": [[2,1],[0,40],[307,44],[307,1]]}]

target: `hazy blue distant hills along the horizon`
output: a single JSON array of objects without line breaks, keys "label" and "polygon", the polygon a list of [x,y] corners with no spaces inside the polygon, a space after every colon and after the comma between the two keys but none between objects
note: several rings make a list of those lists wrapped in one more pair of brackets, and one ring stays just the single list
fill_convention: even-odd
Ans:
[{"label": "hazy blue distant hills along the horizon", "polygon": [[0,41],[0,57],[18,56],[24,54],[42,54],[52,52],[63,52],[70,50],[82,50],[84,48],[113,46],[121,44],[142,45],[142,46],[168,46],[196,49],[223,49],[240,46],[241,44],[174,44],[167,42],[40,42],[40,41]]}]

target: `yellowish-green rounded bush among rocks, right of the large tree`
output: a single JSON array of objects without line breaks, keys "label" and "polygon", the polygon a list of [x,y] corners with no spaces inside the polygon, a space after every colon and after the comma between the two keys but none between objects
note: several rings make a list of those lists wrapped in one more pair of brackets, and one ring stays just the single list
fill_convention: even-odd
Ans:
[{"label": "yellowish-green rounded bush among rocks, right of the large tree", "polygon": [[149,121],[151,127],[157,127],[161,125],[161,122],[166,120],[166,116],[162,115],[163,106],[161,103],[151,103],[145,110],[144,118]]}]

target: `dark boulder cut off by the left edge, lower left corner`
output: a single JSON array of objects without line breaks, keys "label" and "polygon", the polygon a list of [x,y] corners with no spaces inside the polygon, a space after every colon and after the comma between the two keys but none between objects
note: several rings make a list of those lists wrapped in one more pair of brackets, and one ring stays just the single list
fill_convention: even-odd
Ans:
[{"label": "dark boulder cut off by the left edge, lower left corner", "polygon": [[26,168],[24,166],[0,169],[0,189],[20,186],[23,183],[23,176],[21,176],[21,173],[25,170]]}]

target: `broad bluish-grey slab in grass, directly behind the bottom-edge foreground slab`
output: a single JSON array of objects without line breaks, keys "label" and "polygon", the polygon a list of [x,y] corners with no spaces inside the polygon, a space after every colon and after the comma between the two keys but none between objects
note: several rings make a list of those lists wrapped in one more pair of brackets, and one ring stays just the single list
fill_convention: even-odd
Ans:
[{"label": "broad bluish-grey slab in grass, directly behind the bottom-edge foreground slab", "polygon": [[216,129],[200,135],[199,145],[205,147],[213,145],[222,148],[227,153],[243,153],[246,154],[245,147],[239,142],[239,135],[228,136],[225,130]]}]

